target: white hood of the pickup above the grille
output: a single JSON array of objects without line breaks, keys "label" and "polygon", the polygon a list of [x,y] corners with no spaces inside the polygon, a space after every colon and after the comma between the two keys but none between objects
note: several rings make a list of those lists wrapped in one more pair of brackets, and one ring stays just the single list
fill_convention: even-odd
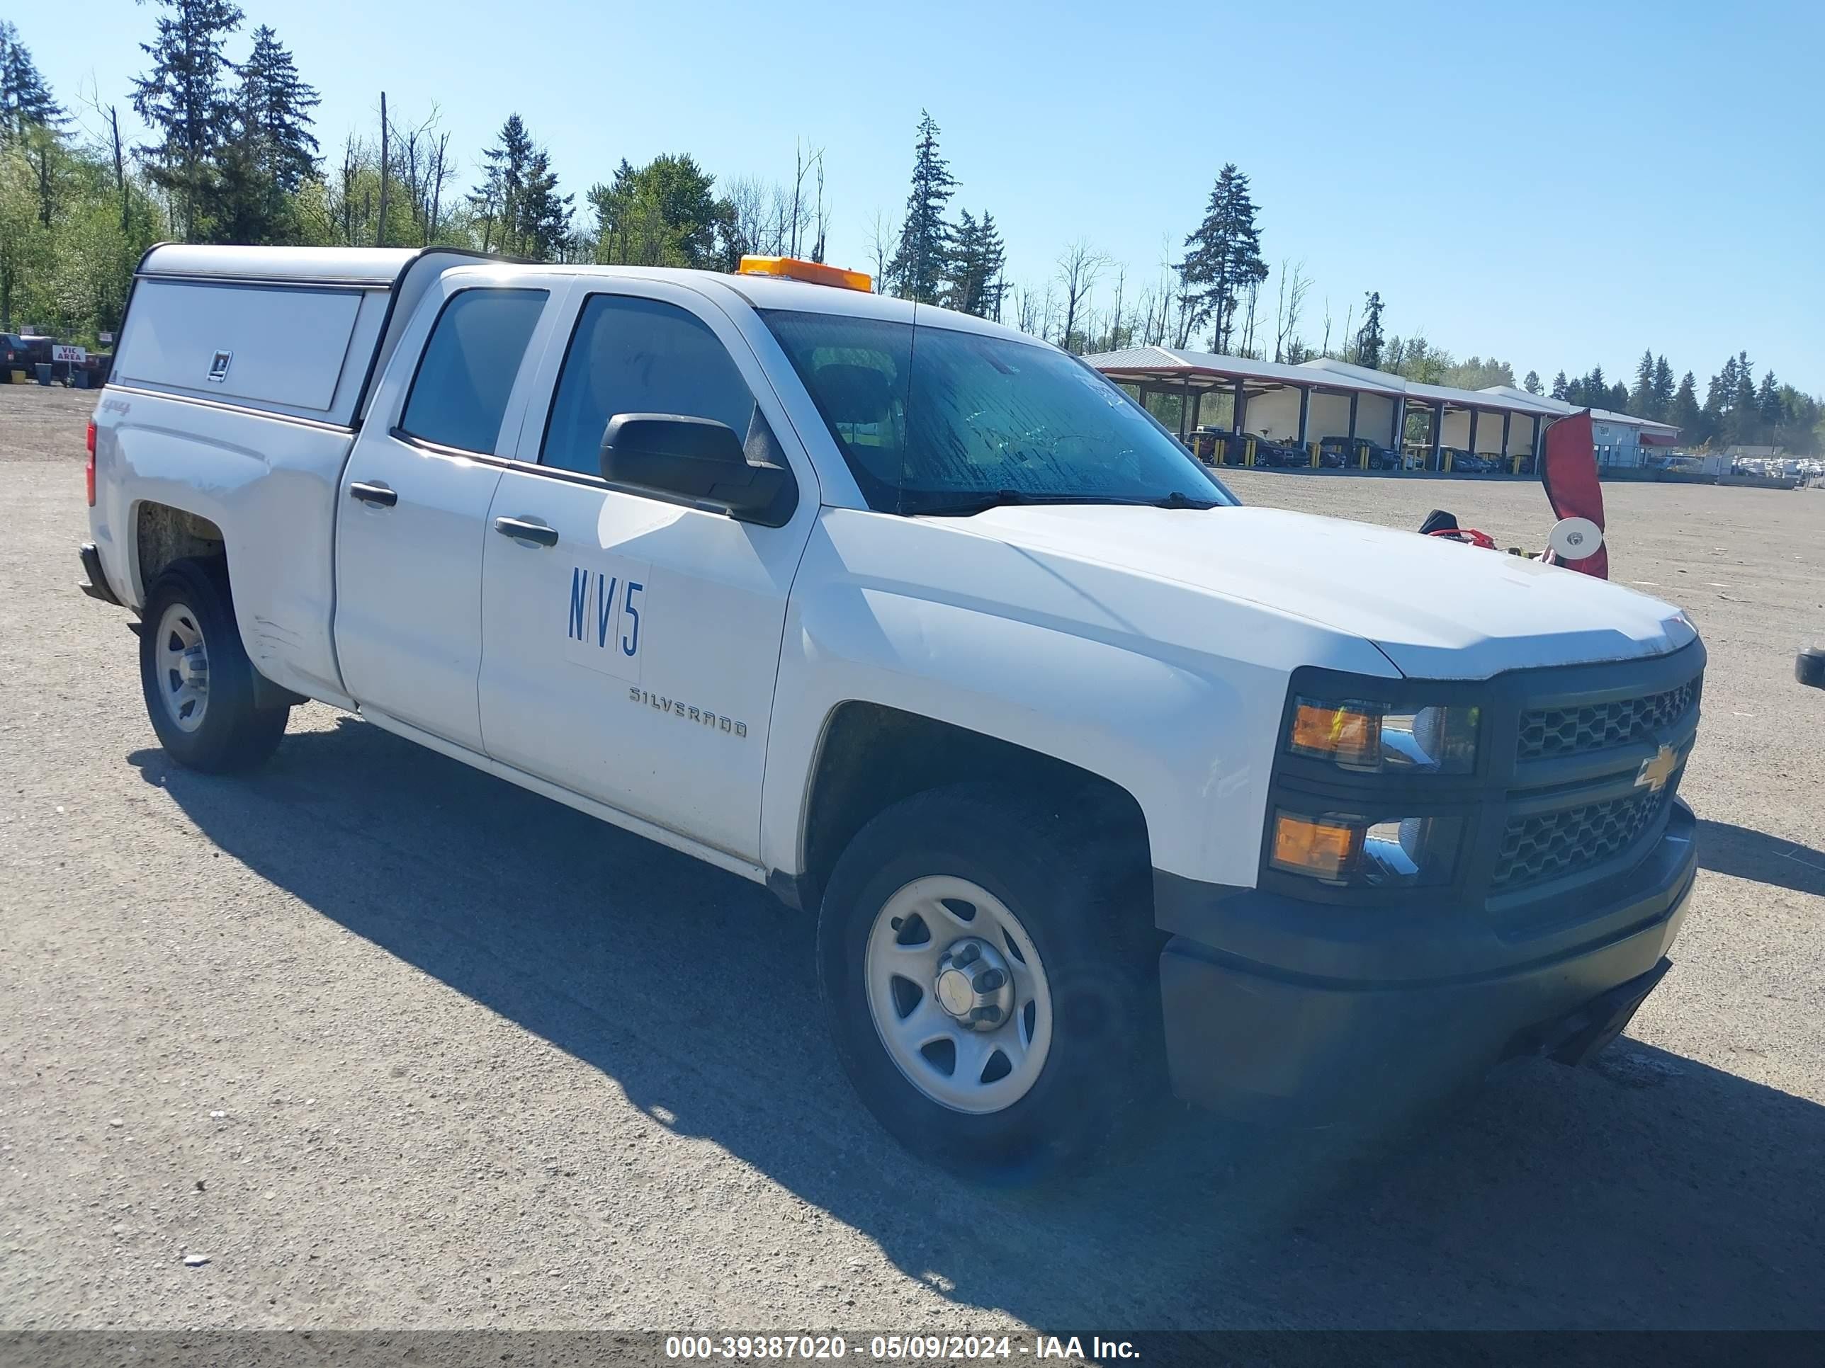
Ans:
[{"label": "white hood of the pickup above the grille", "polygon": [[1048,562],[1091,562],[1261,604],[1374,642],[1414,679],[1628,660],[1697,637],[1672,604],[1436,536],[1281,509],[1037,505],[973,531]]}]

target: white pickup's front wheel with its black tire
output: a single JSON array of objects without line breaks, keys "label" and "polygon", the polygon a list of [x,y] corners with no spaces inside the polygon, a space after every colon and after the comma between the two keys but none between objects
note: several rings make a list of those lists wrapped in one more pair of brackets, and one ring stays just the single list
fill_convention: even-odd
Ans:
[{"label": "white pickup's front wheel with its black tire", "polygon": [[[1068,814],[991,784],[896,803],[850,841],[819,908],[819,990],[850,1083],[902,1145],[975,1180],[1031,1182],[1080,1167],[1161,1074],[1144,839],[1111,837],[1119,823],[1062,806]],[[953,903],[971,907],[967,923]],[[1004,925],[1007,916],[1024,934]],[[940,996],[954,981],[920,978],[929,959],[918,956],[933,954],[922,925],[933,945],[953,947],[953,970],[956,956],[976,954],[969,972],[989,963],[1011,972],[1011,1009],[995,1007],[1006,1010],[1002,1025],[964,1025],[960,1003]],[[971,941],[998,954],[973,952]],[[881,965],[900,967],[902,954],[914,969],[881,992]],[[1000,987],[995,978],[978,972],[975,983]],[[951,1045],[909,1054],[907,1040],[927,1029],[918,1023],[933,1021]],[[971,1065],[987,1051],[973,1078],[958,1045]]]}]

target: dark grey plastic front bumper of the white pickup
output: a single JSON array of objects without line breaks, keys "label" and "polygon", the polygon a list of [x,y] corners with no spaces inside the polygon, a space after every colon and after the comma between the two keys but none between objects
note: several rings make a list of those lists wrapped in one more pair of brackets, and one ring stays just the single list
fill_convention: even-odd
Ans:
[{"label": "dark grey plastic front bumper of the white pickup", "polygon": [[[1528,936],[1434,921],[1411,956],[1424,978],[1398,970],[1407,956],[1378,936],[1372,910],[1155,879],[1161,925],[1181,932],[1161,954],[1173,1091],[1252,1120],[1374,1122],[1515,1054],[1588,1058],[1666,970],[1692,894],[1694,830],[1675,803],[1635,868]],[[1416,921],[1398,925],[1411,934]],[[1462,972],[1440,974],[1453,958]]]}]

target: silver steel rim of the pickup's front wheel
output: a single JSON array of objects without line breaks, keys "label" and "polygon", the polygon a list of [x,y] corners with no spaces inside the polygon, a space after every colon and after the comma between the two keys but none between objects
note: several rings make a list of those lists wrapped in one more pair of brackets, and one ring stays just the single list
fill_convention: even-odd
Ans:
[{"label": "silver steel rim of the pickup's front wheel", "polygon": [[1004,1111],[1046,1067],[1046,969],[1020,919],[980,885],[933,876],[900,888],[874,916],[863,974],[881,1045],[933,1102]]}]

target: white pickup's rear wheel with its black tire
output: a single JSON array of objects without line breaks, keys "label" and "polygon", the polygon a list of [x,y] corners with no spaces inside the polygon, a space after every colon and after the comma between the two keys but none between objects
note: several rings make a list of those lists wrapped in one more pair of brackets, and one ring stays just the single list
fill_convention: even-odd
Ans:
[{"label": "white pickup's rear wheel with its black tire", "polygon": [[139,682],[159,744],[204,773],[265,762],[292,713],[254,706],[254,666],[221,560],[177,560],[153,580],[139,629]]}]

